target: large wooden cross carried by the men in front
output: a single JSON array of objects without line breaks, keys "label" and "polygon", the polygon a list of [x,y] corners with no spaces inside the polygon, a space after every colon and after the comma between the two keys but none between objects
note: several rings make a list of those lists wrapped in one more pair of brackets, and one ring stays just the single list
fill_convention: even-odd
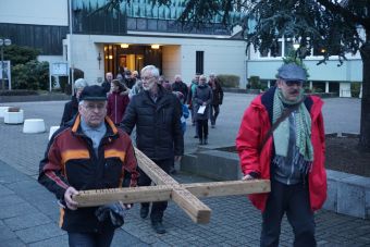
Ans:
[{"label": "large wooden cross carried by the men in front", "polygon": [[211,209],[201,202],[198,197],[270,192],[269,180],[180,184],[140,150],[135,148],[135,152],[139,168],[157,186],[83,190],[74,197],[74,200],[78,202],[78,207],[100,206],[115,201],[137,203],[172,199],[194,222],[205,224],[210,220]]}]

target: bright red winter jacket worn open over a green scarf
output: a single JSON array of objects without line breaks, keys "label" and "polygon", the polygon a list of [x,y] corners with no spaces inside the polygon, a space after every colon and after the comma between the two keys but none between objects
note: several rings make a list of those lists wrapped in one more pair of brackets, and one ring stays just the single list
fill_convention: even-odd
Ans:
[{"label": "bright red winter jacket worn open over a green scarf", "polygon": [[[250,103],[244,113],[236,137],[243,173],[255,172],[262,180],[270,180],[271,161],[274,156],[272,135],[259,151],[259,146],[271,127],[274,91],[275,88],[271,88]],[[314,155],[312,170],[308,174],[308,186],[311,209],[314,211],[320,209],[326,199],[324,125],[321,113],[323,101],[319,97],[309,96],[304,103],[310,112],[312,122],[311,141]],[[268,194],[249,195],[249,199],[256,208],[263,211]]]}]

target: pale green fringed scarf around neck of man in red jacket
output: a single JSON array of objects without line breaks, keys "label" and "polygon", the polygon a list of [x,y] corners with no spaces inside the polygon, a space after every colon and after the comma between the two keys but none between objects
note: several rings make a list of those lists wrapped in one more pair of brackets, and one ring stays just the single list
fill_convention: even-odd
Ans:
[{"label": "pale green fringed scarf around neck of man in red jacket", "polygon": [[[291,107],[296,103],[300,103],[304,97],[303,89],[300,97],[296,101],[285,100],[282,90],[276,88],[273,98],[273,118],[272,123],[274,124],[279,116],[283,113],[285,106]],[[300,103],[298,109],[294,113],[294,122],[296,127],[296,147],[299,155],[304,158],[305,163],[312,163],[313,161],[313,148],[311,144],[311,118],[305,103]],[[286,118],[276,129],[273,132],[273,140],[275,147],[275,153],[278,157],[286,157],[289,141],[289,121]],[[299,157],[294,159],[299,162]],[[306,166],[306,165],[305,165]],[[306,170],[306,169],[305,169]]]}]

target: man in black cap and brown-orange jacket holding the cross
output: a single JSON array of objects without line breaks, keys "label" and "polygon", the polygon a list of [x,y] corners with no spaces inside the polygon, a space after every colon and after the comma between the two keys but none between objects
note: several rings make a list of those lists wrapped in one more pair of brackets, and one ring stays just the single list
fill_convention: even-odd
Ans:
[{"label": "man in black cap and brown-orange jacket holding the cross", "polygon": [[62,126],[49,141],[40,161],[38,182],[55,194],[61,206],[61,227],[70,246],[110,246],[114,230],[123,224],[130,206],[121,202],[78,208],[78,190],[121,187],[125,174],[136,186],[138,172],[130,136],[107,114],[107,94],[100,86],[85,87],[71,125]]}]

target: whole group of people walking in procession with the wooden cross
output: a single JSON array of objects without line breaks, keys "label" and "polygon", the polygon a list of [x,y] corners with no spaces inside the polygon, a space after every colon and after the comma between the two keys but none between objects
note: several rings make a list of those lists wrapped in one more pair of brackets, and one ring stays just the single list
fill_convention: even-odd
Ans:
[{"label": "whole group of people walking in procession with the wooden cross", "polygon": [[[184,155],[181,119],[186,102],[199,144],[206,145],[208,120],[214,127],[223,100],[214,74],[208,82],[205,75],[196,75],[189,87],[184,87],[177,75],[172,94],[161,85],[159,70],[148,65],[141,70],[140,85],[137,81],[131,84],[131,90],[143,88],[134,97],[111,74],[107,73],[106,79],[111,83],[111,94],[104,85],[87,86],[84,79],[76,81],[75,98],[65,106],[62,126],[40,161],[38,181],[62,207],[60,225],[67,232],[70,246],[110,246],[114,230],[124,223],[132,207],[119,201],[78,208],[74,196],[79,190],[150,186],[150,177],[137,166],[130,138],[135,127],[137,148],[170,173],[174,161]],[[294,246],[317,245],[313,211],[326,197],[323,103],[318,97],[304,95],[306,79],[303,67],[282,65],[276,86],[259,95],[245,111],[236,137],[243,180],[271,180],[270,193],[249,196],[262,212],[261,246],[279,246],[285,213],[293,226]],[[123,116],[108,107],[121,96],[130,100]],[[140,206],[140,218],[150,215],[158,234],[165,233],[166,207],[166,201]]]}]

